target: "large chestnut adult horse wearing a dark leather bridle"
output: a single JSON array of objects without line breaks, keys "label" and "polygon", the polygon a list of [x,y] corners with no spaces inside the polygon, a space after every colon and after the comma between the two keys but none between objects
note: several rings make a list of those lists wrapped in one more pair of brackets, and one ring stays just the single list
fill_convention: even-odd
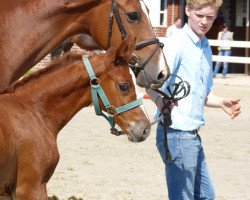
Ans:
[{"label": "large chestnut adult horse wearing a dark leather bridle", "polygon": [[72,35],[107,50],[138,38],[131,63],[137,84],[159,87],[169,68],[143,0],[0,0],[0,88],[9,86]]}]

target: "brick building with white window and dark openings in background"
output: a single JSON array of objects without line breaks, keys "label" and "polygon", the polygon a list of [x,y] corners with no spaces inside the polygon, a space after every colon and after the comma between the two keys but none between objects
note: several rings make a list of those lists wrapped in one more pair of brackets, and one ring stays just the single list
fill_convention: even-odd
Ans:
[{"label": "brick building with white window and dark openings in background", "polygon": [[[176,17],[180,17],[185,23],[185,0],[144,0],[150,10],[150,19],[157,36],[165,36],[168,26],[173,24]],[[230,26],[230,31],[234,32],[234,40],[250,41],[249,30],[249,7],[250,0],[224,0],[218,17],[214,22],[213,27],[207,33],[208,39],[216,39],[217,33],[221,29],[223,23]],[[213,48],[213,54],[217,54],[217,49]],[[233,48],[233,56],[249,57],[248,49]],[[230,64],[230,70],[233,73],[244,73],[248,70],[244,64]]]}]

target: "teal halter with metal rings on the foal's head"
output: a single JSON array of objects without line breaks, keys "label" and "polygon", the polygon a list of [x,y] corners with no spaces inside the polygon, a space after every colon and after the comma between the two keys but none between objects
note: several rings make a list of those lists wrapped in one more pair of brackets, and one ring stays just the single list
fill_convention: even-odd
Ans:
[{"label": "teal halter with metal rings on the foal's head", "polygon": [[[100,85],[100,81],[99,79],[95,76],[95,73],[93,71],[93,68],[89,62],[88,58],[82,58],[83,63],[87,69],[87,72],[89,74],[90,77],[90,85],[91,85],[91,94],[92,94],[92,101],[93,101],[93,105],[95,108],[95,113],[96,115],[100,115],[103,116],[111,125],[112,129],[114,129],[115,127],[115,121],[114,121],[114,116],[115,115],[119,115],[122,112],[126,112],[130,109],[133,109],[139,105],[142,104],[142,99],[137,99],[135,101],[132,101],[126,105],[120,106],[118,108],[116,108],[115,106],[111,105],[109,103],[109,100],[107,98],[107,96],[105,95],[105,92],[103,91],[101,85]],[[106,111],[108,113],[108,115],[105,115],[99,105],[99,101],[98,101],[98,96],[101,99],[101,101],[103,102],[104,107],[106,108]],[[111,129],[111,131],[112,131]]]}]

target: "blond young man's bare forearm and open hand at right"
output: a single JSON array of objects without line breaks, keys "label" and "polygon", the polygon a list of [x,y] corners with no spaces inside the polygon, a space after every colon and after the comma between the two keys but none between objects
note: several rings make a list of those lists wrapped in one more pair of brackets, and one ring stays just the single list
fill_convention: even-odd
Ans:
[{"label": "blond young man's bare forearm and open hand at right", "polygon": [[234,119],[241,113],[239,101],[240,98],[223,98],[210,92],[206,98],[205,105],[211,108],[222,108]]}]

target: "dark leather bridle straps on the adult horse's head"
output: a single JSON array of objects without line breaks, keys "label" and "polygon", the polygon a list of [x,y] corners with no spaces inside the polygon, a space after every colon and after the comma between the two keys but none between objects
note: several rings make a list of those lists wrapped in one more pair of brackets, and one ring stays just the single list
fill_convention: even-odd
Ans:
[{"label": "dark leather bridle straps on the adult horse's head", "polygon": [[[126,32],[124,25],[122,23],[116,0],[111,0],[107,48],[110,47],[110,43],[111,43],[114,16],[115,16],[118,28],[121,32],[122,40],[124,40],[124,38],[127,36],[127,32]],[[153,49],[153,51],[151,52],[149,57],[142,64],[139,63],[139,58],[136,55],[134,55],[136,57],[135,63],[133,63],[133,64],[128,63],[130,68],[135,73],[135,76],[137,76],[140,71],[144,70],[145,66],[148,64],[148,62],[151,60],[151,58],[155,55],[155,53],[158,51],[158,49],[159,48],[162,49],[164,46],[163,43],[161,43],[158,38],[152,38],[152,39],[143,40],[143,41],[138,42],[136,44],[135,50],[143,49],[144,47],[147,47],[149,45],[156,45],[156,47]]]}]

